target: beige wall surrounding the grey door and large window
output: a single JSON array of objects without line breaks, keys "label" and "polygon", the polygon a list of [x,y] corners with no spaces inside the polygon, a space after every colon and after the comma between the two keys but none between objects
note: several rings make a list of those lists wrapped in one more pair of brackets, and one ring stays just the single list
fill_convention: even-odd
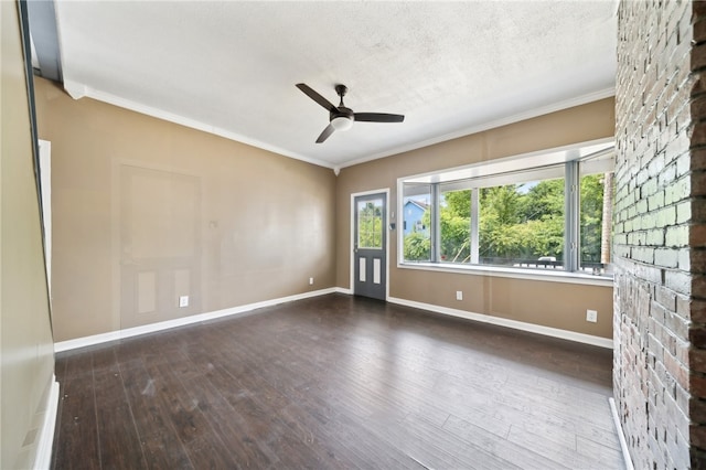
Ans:
[{"label": "beige wall surrounding the grey door and large window", "polygon": [[[614,121],[614,103],[607,98],[343,169],[336,188],[336,285],[350,288],[352,193],[388,188],[389,210],[396,212],[398,178],[611,138]],[[388,255],[392,297],[612,338],[612,287],[397,268],[396,235],[391,233]],[[464,291],[463,301],[456,300],[457,290]],[[597,323],[586,322],[587,309],[598,310]]]}]

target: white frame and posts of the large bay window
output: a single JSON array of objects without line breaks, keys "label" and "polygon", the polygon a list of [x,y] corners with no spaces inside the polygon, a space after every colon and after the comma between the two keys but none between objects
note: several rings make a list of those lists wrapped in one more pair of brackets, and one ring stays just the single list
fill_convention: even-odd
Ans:
[{"label": "white frame and posts of the large bay window", "polygon": [[[404,269],[421,269],[447,273],[464,273],[470,275],[493,275],[498,277],[528,278],[537,280],[578,282],[591,285],[612,285],[612,273],[589,274],[582,270],[580,259],[580,179],[581,162],[593,159],[606,160],[605,156],[613,154],[611,164],[614,165],[613,139],[599,139],[589,142],[548,149],[544,151],[524,153],[509,158],[488,160],[470,165],[442,169],[428,173],[402,177],[397,179],[397,213],[402,214],[399,221],[404,225],[405,183],[430,184],[431,188],[431,256],[429,261],[414,261],[404,259],[404,231],[397,234],[397,267]],[[545,269],[530,267],[506,267],[496,265],[453,264],[439,259],[441,235],[439,231],[439,196],[441,192],[474,189],[471,194],[478,199],[478,189],[481,186],[495,186],[512,184],[522,178],[533,179],[533,175],[546,175],[564,167],[563,175],[565,184],[565,229],[564,229],[564,269]],[[522,177],[518,177],[522,175]],[[554,177],[556,178],[556,177]],[[547,177],[539,179],[549,179]],[[537,179],[537,180],[539,180]],[[506,181],[504,183],[504,181]],[[478,224],[478,201],[471,201],[471,223]],[[471,228],[471,245],[478,244],[478,237],[473,238],[474,228]],[[473,254],[473,250],[471,250]]]}]

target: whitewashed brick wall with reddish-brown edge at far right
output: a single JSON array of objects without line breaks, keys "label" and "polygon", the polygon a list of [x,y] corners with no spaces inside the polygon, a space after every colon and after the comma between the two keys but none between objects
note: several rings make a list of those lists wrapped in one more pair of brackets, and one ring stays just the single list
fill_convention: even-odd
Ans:
[{"label": "whitewashed brick wall with reddish-brown edge at far right", "polygon": [[614,395],[635,468],[706,468],[706,3],[618,14]]}]

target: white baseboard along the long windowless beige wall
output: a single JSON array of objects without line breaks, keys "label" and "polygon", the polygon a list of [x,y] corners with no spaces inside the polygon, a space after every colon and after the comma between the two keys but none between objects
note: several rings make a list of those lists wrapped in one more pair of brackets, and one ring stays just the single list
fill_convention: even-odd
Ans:
[{"label": "white baseboard along the long windowless beige wall", "polygon": [[54,343],[55,352],[75,350],[78,348],[90,346],[95,344],[106,343],[108,341],[121,340],[124,338],[137,337],[140,334],[154,333],[158,331],[169,330],[170,328],[184,327],[186,324],[201,323],[222,317],[237,316],[250,312],[264,307],[272,307],[279,303],[291,302],[295,300],[308,299],[311,297],[325,296],[327,293],[338,292],[338,288],[313,290],[311,292],[297,293],[295,296],[280,297],[277,299],[264,300],[261,302],[248,303],[245,306],[232,307],[228,309],[216,310],[206,313],[199,313],[190,317],[178,318],[174,320],[160,321],[158,323],[145,324],[141,327],[126,328],[125,330],[110,331],[108,333],[94,334],[90,337],[77,338],[75,340],[60,341]]}]

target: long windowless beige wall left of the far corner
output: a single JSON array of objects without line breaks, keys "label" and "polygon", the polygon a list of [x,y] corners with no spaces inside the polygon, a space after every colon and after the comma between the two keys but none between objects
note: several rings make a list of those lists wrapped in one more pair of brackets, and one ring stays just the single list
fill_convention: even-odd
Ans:
[{"label": "long windowless beige wall left of the far corner", "polygon": [[332,170],[35,84],[56,341],[335,285]]}]

